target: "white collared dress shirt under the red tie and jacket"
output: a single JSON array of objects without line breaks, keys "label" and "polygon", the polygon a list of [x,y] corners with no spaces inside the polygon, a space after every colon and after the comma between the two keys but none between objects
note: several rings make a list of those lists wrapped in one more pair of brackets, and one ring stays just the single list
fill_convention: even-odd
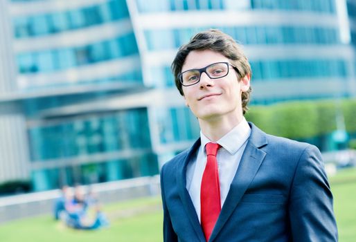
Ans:
[{"label": "white collared dress shirt under the red tie and jacket", "polygon": [[[247,121],[242,118],[242,121],[229,133],[226,133],[220,140],[217,140],[217,144],[221,145],[221,148],[217,151],[217,166],[219,168],[219,180],[220,180],[220,198],[221,205],[224,205],[226,196],[229,192],[231,182],[238,170],[238,165],[244,153],[244,148],[247,144],[247,139],[251,134],[251,128]],[[195,157],[188,162],[186,170],[186,189],[190,194],[190,198],[193,201],[195,211],[200,221],[200,187],[202,185],[202,177],[206,165],[206,151],[205,145],[211,142],[204,133],[200,131],[200,139],[202,144],[197,151]]]}]

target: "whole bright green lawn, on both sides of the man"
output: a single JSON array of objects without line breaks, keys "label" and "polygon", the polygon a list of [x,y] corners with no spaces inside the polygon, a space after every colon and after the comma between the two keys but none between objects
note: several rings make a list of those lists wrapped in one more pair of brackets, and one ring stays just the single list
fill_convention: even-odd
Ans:
[{"label": "whole bright green lawn, on both sides of the man", "polygon": [[[339,171],[330,177],[334,194],[339,241],[356,238],[356,169]],[[162,241],[162,211],[159,197],[141,198],[105,205],[110,226],[96,231],[71,230],[53,221],[51,216],[24,218],[0,225],[0,241],[4,242],[111,242]]]}]

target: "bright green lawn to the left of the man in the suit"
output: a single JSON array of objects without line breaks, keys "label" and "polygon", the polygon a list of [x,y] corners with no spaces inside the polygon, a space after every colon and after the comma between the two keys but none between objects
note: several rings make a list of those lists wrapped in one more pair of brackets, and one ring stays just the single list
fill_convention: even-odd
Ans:
[{"label": "bright green lawn to the left of the man in the suit", "polygon": [[105,205],[110,225],[95,231],[72,230],[51,216],[37,216],[0,226],[1,242],[162,241],[161,198],[141,198]]}]

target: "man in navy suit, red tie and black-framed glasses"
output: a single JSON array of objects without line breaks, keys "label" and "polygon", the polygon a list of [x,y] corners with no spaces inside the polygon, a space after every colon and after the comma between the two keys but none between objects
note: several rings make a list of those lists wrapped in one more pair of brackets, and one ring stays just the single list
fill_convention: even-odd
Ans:
[{"label": "man in navy suit, red tie and black-framed glasses", "polygon": [[172,71],[201,133],[161,169],[164,241],[337,241],[317,147],[244,119],[251,68],[240,46],[199,32]]}]

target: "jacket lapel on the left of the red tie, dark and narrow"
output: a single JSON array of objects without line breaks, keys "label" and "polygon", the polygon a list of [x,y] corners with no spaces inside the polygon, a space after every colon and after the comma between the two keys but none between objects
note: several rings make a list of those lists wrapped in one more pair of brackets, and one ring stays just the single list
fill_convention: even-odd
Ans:
[{"label": "jacket lapel on the left of the red tie, dark and narrow", "polygon": [[[195,142],[193,147],[188,151],[188,154],[184,160],[182,160],[183,165],[178,167],[177,172],[177,185],[179,189],[179,196],[181,198],[181,202],[183,203],[183,207],[186,210],[186,214],[188,214],[188,218],[190,220],[191,225],[199,238],[199,241],[205,241],[204,233],[202,227],[200,226],[199,219],[197,217],[197,212],[195,212],[195,207],[193,205],[192,200],[190,199],[190,195],[188,190],[186,189],[186,167],[188,162],[190,162],[192,156],[195,154],[197,149],[200,146],[200,139]],[[188,226],[188,225],[187,225]]]}]

